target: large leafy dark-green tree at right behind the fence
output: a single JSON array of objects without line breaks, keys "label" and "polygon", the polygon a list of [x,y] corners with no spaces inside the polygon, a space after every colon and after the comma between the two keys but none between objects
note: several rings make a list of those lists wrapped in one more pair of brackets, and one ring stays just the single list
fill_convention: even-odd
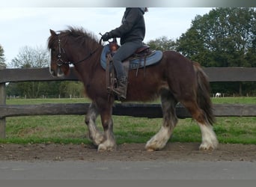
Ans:
[{"label": "large leafy dark-green tree at right behind the fence", "polygon": [[254,8],[216,8],[196,16],[177,50],[204,67],[255,67]]}]

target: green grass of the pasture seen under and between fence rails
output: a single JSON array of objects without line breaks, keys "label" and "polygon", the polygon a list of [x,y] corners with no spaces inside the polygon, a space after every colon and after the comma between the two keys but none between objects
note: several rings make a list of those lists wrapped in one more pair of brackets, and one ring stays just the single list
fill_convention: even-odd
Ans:
[{"label": "green grass of the pasture seen under and between fence rails", "polygon": [[[10,99],[7,104],[79,103],[88,99]],[[213,103],[256,104],[255,97],[213,98]],[[1,143],[89,144],[85,117],[79,115],[7,117],[6,138]],[[162,119],[113,116],[118,144],[146,143],[162,126]],[[256,117],[217,117],[214,130],[221,143],[256,144]],[[100,126],[100,117],[97,119]],[[170,141],[200,142],[201,132],[190,118],[180,119]]]}]

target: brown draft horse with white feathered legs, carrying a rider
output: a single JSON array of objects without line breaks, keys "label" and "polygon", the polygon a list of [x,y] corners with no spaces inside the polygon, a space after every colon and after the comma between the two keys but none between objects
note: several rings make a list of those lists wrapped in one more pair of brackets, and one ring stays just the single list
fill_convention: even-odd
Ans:
[{"label": "brown draft horse with white feathered legs, carrying a rider", "polygon": [[[79,75],[85,87],[85,94],[91,99],[85,124],[88,138],[98,151],[117,149],[113,132],[112,107],[115,96],[106,89],[106,71],[100,65],[104,43],[84,28],[68,27],[63,31],[50,30],[48,49],[50,73],[63,77],[70,72],[70,64]],[[148,151],[162,150],[177,125],[175,106],[180,102],[192,115],[201,129],[199,150],[214,150],[218,146],[213,131],[215,117],[210,100],[210,84],[201,66],[190,61],[179,52],[162,52],[157,64],[129,70],[127,99],[124,102],[146,102],[160,97],[162,126],[145,145]],[[103,130],[97,128],[100,115]]]}]

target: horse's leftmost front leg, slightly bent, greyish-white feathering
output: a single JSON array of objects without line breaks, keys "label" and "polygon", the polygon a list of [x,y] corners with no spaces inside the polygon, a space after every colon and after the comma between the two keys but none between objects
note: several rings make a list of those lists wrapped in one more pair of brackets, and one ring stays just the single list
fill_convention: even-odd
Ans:
[{"label": "horse's leftmost front leg, slightly bent, greyish-white feathering", "polygon": [[85,123],[88,126],[89,138],[95,145],[99,145],[104,141],[103,133],[97,129],[95,120],[99,115],[97,105],[94,102],[91,102],[91,105],[88,108],[88,112],[85,116]]}]

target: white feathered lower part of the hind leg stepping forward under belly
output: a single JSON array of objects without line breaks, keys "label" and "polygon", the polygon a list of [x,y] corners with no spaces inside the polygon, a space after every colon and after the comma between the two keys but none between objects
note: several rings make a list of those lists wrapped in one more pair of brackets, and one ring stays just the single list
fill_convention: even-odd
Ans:
[{"label": "white feathered lower part of the hind leg stepping forward under belly", "polygon": [[146,150],[153,151],[153,150],[161,150],[165,147],[168,139],[171,136],[171,130],[169,126],[162,126],[159,129],[159,132],[156,133],[146,144]]}]

